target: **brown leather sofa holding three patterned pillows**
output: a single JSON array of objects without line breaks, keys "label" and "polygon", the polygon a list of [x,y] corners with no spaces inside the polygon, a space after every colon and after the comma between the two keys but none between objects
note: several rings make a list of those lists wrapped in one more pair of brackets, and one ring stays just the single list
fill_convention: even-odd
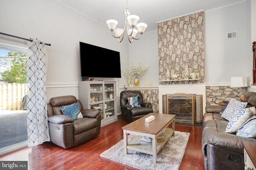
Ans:
[{"label": "brown leather sofa holding three patterned pillows", "polygon": [[[256,93],[244,92],[241,102],[248,102],[247,107],[256,106]],[[256,139],[237,136],[236,133],[225,133],[228,121],[221,117],[224,106],[206,106],[203,116],[202,153],[206,170],[243,170],[244,148],[241,141]]]}]

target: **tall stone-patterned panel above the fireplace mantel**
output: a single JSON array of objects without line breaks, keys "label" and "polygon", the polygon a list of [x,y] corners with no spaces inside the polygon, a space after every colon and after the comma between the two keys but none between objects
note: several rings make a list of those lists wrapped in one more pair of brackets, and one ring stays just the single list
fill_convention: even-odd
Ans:
[{"label": "tall stone-patterned panel above the fireplace mantel", "polygon": [[183,80],[186,64],[189,74],[200,74],[200,80],[164,81],[160,84],[204,83],[203,18],[204,12],[197,12],[157,24],[159,80],[167,80],[168,69],[170,75],[181,74]]}]

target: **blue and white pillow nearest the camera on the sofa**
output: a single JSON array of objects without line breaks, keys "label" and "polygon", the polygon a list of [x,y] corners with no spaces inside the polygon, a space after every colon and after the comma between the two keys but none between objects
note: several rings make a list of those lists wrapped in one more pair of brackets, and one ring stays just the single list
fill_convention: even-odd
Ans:
[{"label": "blue and white pillow nearest the camera on the sofa", "polygon": [[256,115],[248,119],[237,131],[237,136],[256,138]]}]

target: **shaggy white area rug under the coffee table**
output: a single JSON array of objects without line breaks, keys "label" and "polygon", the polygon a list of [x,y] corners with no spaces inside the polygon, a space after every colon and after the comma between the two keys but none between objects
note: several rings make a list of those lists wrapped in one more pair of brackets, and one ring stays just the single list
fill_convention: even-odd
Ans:
[{"label": "shaggy white area rug under the coffee table", "polygon": [[[128,149],[124,154],[124,140],[122,139],[110,149],[105,150],[100,156],[114,160],[127,166],[141,170],[178,170],[183,158],[190,133],[175,131],[166,144],[157,154],[157,162],[153,163],[153,156]],[[136,137],[128,135],[128,141]]]}]

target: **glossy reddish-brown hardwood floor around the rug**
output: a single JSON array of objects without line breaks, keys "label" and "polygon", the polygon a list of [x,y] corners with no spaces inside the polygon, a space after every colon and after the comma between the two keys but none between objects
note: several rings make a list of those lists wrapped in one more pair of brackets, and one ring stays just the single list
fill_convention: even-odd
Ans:
[{"label": "glossy reddish-brown hardwood floor around the rug", "polygon": [[[28,170],[136,170],[100,157],[100,154],[123,139],[122,117],[101,128],[100,135],[71,149],[50,142],[26,147],[0,156],[0,161],[28,161]],[[204,170],[201,150],[202,127],[175,125],[176,131],[189,132],[188,145],[179,170]],[[172,168],[170,167],[170,170]]]}]

